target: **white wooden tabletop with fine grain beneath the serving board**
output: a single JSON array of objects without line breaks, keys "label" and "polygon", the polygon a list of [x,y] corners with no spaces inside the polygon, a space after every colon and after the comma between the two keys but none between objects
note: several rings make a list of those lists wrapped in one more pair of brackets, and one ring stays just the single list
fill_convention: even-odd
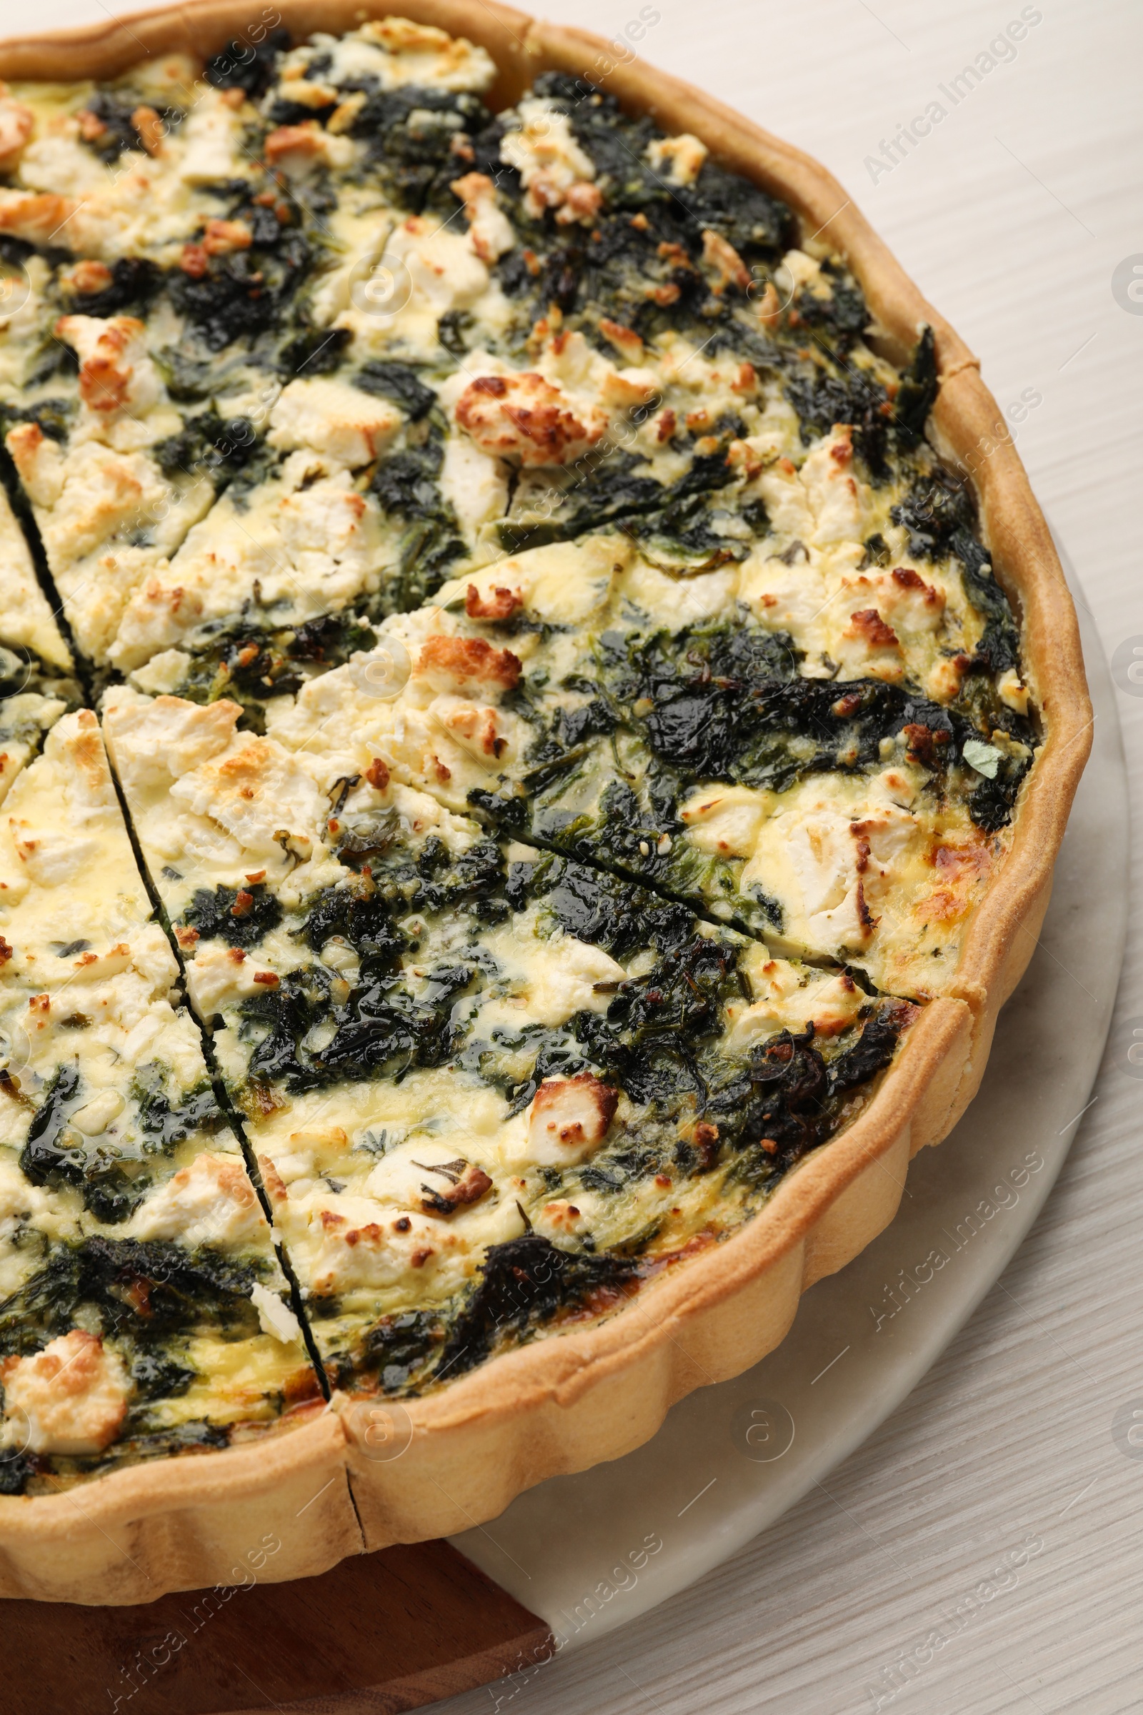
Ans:
[{"label": "white wooden tabletop with fine grain beneath the serving board", "polygon": [[[41,0],[34,26],[106,12]],[[658,14],[646,60],[838,175],[982,355],[1109,655],[1143,638],[1143,314],[1112,295],[1116,268],[1143,264],[1138,0],[547,0],[547,12],[608,36]],[[975,86],[961,77],[1021,15],[1038,22],[1014,57],[1001,48]],[[0,0],[5,34],[31,22]],[[883,141],[932,101],[944,118],[888,168]],[[1121,695],[1119,708],[1136,796],[1143,700]],[[1119,1015],[1143,1026],[1134,931]],[[1143,1410],[1141,1104],[1143,1084],[1109,1053],[1030,1238],[828,1492],[656,1612],[442,1715],[1138,1710],[1143,1458],[1121,1453],[1112,1422]],[[1020,1564],[1028,1540],[1040,1547]],[[970,1600],[984,1585],[994,1595]]]}]

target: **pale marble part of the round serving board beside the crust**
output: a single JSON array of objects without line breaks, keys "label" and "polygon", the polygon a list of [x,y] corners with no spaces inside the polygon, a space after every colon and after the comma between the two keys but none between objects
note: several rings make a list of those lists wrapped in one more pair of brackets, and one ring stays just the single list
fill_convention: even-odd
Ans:
[{"label": "pale marble part of the round serving board beside the crust", "polygon": [[694,1583],[865,1441],[972,1315],[1052,1188],[1104,1053],[1128,911],[1119,719],[1081,597],[1078,607],[1092,761],[1040,945],[961,1123],[917,1156],[893,1225],[805,1293],[776,1351],[680,1401],[636,1453],[540,1483],[452,1538],[567,1646]]}]

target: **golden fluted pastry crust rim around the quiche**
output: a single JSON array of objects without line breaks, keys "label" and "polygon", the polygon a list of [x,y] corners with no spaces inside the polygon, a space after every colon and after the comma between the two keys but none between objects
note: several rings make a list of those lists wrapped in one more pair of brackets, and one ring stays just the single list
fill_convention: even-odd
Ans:
[{"label": "golden fluted pastry crust rim around the quiche", "polygon": [[[362,17],[358,0],[281,0],[279,10],[295,38],[339,33]],[[317,1573],[362,1547],[461,1530],[531,1483],[631,1451],[685,1393],[756,1363],[785,1336],[804,1288],[893,1219],[910,1156],[939,1142],[975,1094],[999,1007],[1035,948],[1088,756],[1074,609],[1002,415],[978,360],[836,180],[715,98],[643,63],[617,63],[584,31],[485,0],[404,0],[401,10],[490,51],[499,67],[492,106],[514,101],[543,70],[605,77],[624,105],[653,110],[665,130],[699,139],[716,161],[788,202],[809,233],[828,228],[876,317],[872,343],[893,362],[907,358],[919,324],[934,328],[943,381],[931,434],[972,480],[996,576],[1021,623],[1044,748],[1011,849],[975,909],[951,998],[924,1010],[860,1118],[790,1173],[727,1243],[667,1269],[620,1312],[497,1357],[430,1398],[387,1406],[339,1396],[314,1422],[257,1446],[99,1477],[84,1487],[82,1511],[67,1494],[0,1499],[3,1595],[146,1602],[236,1583],[267,1530],[283,1544],[259,1574],[271,1580]],[[132,15],[130,27],[10,41],[0,46],[0,77],[108,77],[141,48],[200,60],[247,26],[233,0],[202,0]]]}]

